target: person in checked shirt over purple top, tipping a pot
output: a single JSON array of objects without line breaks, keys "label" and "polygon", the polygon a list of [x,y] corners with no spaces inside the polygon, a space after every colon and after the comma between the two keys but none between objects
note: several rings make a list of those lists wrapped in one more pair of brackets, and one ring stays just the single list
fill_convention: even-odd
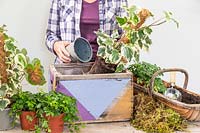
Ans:
[{"label": "person in checked shirt over purple top, tipping a pot", "polygon": [[94,31],[111,35],[118,28],[115,17],[126,15],[127,5],[127,0],[52,0],[46,45],[57,56],[56,63],[71,62],[65,47],[80,36],[90,42],[94,60],[98,49]]}]

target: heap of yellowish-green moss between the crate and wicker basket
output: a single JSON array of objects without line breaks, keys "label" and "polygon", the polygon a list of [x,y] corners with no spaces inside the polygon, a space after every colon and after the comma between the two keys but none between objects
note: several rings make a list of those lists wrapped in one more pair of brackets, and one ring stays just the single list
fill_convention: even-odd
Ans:
[{"label": "heap of yellowish-green moss between the crate and wicker basket", "polygon": [[148,133],[172,133],[187,128],[186,120],[178,113],[148,95],[135,95],[134,102],[135,112],[131,123],[136,129]]}]

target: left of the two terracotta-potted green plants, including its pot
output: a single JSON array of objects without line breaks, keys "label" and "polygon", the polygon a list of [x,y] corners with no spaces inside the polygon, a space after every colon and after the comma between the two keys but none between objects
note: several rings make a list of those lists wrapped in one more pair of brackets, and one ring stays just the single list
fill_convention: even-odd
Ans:
[{"label": "left of the two terracotta-potted green plants, including its pot", "polygon": [[36,109],[38,100],[36,94],[29,91],[19,91],[12,96],[11,114],[20,118],[22,130],[35,130],[38,125]]}]

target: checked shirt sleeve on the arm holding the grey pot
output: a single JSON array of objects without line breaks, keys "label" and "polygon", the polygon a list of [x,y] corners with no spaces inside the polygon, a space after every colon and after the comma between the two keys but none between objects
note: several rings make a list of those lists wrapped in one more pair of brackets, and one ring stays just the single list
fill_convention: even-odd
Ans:
[{"label": "checked shirt sleeve on the arm holding the grey pot", "polygon": [[[59,0],[52,0],[48,26],[46,31],[46,46],[49,51],[54,53],[53,45],[60,37],[60,11]],[[54,53],[55,54],[55,53]]]}]

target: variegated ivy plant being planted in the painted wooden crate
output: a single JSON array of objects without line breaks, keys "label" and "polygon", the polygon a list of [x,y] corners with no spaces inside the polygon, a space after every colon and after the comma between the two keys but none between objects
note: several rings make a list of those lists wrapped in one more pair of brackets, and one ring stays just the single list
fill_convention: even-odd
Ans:
[{"label": "variegated ivy plant being planted in the painted wooden crate", "polygon": [[165,16],[155,20],[150,24],[145,24],[146,20],[153,18],[153,14],[148,9],[139,9],[136,6],[125,7],[127,16],[116,17],[123,34],[119,35],[114,31],[111,36],[103,31],[97,31],[97,43],[99,45],[97,56],[102,57],[106,63],[116,64],[116,72],[121,72],[131,64],[139,62],[141,50],[149,49],[152,44],[150,35],[152,27],[161,25],[168,21],[178,22],[172,18],[171,12],[164,12]]}]

